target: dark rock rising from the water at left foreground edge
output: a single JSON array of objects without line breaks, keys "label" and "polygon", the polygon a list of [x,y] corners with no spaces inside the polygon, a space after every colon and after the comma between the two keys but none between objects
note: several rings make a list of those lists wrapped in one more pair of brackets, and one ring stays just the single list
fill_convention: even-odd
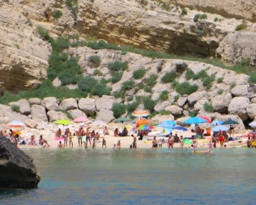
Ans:
[{"label": "dark rock rising from the water at left foreground edge", "polygon": [[0,136],[0,188],[38,188],[39,182],[33,159]]}]

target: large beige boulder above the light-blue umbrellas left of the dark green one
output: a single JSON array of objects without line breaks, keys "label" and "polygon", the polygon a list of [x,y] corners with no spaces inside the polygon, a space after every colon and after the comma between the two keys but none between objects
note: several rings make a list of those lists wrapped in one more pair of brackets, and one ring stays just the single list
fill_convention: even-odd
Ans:
[{"label": "large beige boulder above the light-blue umbrellas left of the dark green one", "polygon": [[212,108],[218,113],[225,114],[228,112],[228,105],[231,100],[232,95],[230,92],[218,94],[212,99]]}]

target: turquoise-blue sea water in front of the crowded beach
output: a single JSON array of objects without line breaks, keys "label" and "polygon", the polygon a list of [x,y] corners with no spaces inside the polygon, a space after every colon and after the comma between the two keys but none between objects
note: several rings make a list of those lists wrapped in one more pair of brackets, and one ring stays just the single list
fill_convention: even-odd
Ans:
[{"label": "turquoise-blue sea water in front of the crowded beach", "polygon": [[256,149],[24,149],[38,189],[0,204],[255,204]]}]

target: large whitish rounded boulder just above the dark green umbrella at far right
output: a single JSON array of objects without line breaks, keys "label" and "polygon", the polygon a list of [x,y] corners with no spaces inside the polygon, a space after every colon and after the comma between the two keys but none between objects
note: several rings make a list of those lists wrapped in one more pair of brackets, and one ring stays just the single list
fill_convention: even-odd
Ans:
[{"label": "large whitish rounded boulder just above the dark green umbrella at far right", "polygon": [[246,111],[248,105],[249,98],[243,96],[234,97],[228,105],[228,114],[238,115],[243,121],[245,121],[249,117]]}]

